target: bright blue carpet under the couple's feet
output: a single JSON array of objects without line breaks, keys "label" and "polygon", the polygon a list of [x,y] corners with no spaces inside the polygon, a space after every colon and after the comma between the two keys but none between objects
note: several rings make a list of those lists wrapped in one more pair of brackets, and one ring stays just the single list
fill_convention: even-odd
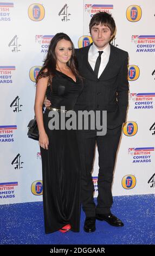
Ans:
[{"label": "bright blue carpet under the couple's feet", "polygon": [[96,221],[96,231],[83,231],[85,214],[81,211],[80,233],[44,233],[43,203],[0,205],[1,245],[152,245],[155,243],[153,194],[114,197],[112,213],[124,227]]}]

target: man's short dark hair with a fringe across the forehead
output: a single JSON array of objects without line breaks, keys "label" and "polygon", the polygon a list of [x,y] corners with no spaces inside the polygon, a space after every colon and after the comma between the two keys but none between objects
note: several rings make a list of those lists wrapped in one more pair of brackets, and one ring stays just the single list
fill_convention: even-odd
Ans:
[{"label": "man's short dark hair with a fringe across the forehead", "polygon": [[113,35],[115,32],[115,21],[111,14],[106,13],[105,11],[96,13],[90,23],[89,23],[89,32],[91,33],[91,29],[95,25],[105,25],[111,30],[111,34]]}]

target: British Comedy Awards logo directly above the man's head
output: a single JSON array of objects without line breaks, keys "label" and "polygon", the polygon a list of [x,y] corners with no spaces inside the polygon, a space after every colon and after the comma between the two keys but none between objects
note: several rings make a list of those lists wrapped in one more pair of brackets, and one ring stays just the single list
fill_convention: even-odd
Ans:
[{"label": "British Comedy Awards logo directly above the man's head", "polygon": [[112,9],[113,4],[85,4],[85,12],[87,12],[91,17],[93,17],[94,14],[99,13],[99,11],[111,13]]}]

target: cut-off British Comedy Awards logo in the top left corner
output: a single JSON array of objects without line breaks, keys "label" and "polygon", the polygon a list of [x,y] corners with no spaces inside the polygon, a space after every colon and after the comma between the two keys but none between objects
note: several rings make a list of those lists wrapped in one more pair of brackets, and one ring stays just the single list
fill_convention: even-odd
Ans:
[{"label": "cut-off British Comedy Awards logo in the top left corner", "polygon": [[11,11],[14,3],[0,3],[0,22],[11,21]]}]

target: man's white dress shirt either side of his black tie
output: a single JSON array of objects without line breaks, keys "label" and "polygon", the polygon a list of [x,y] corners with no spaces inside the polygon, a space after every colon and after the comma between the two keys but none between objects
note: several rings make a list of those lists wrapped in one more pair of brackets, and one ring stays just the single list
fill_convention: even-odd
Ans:
[{"label": "man's white dress shirt either side of his black tie", "polygon": [[[91,45],[91,47],[89,48],[89,52],[88,52],[88,62],[91,65],[92,69],[95,69],[95,63],[96,63],[96,59],[99,56],[98,53],[99,49],[94,45]],[[109,56],[110,56],[110,52],[111,52],[111,47],[108,44],[104,50],[102,50],[103,53],[101,54],[101,64],[100,64],[100,68],[99,68],[99,73],[98,73],[98,78],[100,77],[100,75],[102,74],[102,72],[104,71],[104,69],[106,68],[106,65],[109,61]]]}]

